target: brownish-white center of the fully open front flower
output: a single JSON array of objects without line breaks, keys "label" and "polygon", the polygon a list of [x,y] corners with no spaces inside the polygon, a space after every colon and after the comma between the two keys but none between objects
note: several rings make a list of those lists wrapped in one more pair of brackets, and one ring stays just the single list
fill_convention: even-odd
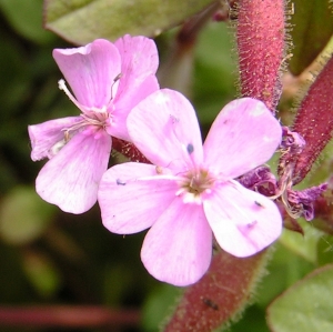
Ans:
[{"label": "brownish-white center of the fully open front flower", "polygon": [[204,194],[209,194],[214,187],[216,178],[208,170],[199,169],[188,171],[179,181],[180,189],[176,195],[182,195],[184,203],[202,203]]}]

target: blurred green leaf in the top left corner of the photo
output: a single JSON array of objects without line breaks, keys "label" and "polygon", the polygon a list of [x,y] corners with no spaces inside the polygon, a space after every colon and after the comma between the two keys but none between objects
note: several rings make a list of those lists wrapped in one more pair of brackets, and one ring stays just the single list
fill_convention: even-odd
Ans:
[{"label": "blurred green leaf in the top left corner of the photo", "polygon": [[22,37],[37,43],[54,39],[42,26],[42,0],[0,0],[0,9]]}]

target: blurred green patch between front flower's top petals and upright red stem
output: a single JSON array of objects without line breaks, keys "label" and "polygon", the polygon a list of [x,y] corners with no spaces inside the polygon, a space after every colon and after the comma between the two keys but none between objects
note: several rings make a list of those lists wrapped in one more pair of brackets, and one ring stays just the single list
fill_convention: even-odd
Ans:
[{"label": "blurred green patch between front flower's top petals and upright red stem", "polygon": [[221,109],[236,97],[236,52],[232,28],[211,22],[199,36],[193,74],[193,103],[208,132]]}]

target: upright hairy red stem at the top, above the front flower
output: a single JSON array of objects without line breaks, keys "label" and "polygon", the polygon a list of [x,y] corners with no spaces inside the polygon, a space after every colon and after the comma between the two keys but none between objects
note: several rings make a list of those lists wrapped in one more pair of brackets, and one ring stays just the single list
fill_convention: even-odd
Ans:
[{"label": "upright hairy red stem at the top, above the front flower", "polygon": [[236,39],[242,97],[263,101],[274,112],[282,91],[285,57],[283,0],[240,0]]}]

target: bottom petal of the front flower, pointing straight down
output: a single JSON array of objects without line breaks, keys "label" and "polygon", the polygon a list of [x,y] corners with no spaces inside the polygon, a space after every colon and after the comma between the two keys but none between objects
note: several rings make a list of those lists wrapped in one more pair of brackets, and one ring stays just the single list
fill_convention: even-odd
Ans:
[{"label": "bottom petal of the front flower, pointing straight down", "polygon": [[145,235],[141,259],[158,280],[184,286],[196,282],[212,256],[212,232],[202,205],[180,198],[164,211]]}]

